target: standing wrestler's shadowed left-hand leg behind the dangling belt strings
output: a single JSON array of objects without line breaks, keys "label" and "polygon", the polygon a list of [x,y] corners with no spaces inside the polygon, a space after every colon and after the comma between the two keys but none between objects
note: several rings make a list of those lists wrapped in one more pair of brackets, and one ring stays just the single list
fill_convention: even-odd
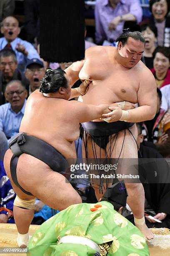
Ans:
[{"label": "standing wrestler's shadowed left-hand leg behind the dangling belt strings", "polygon": [[[85,145],[87,147],[87,155],[85,154]],[[105,149],[100,148],[95,141],[91,138],[89,134],[87,134],[87,137],[84,135],[84,142],[82,141],[82,157],[85,159],[86,157],[88,159],[96,159],[96,164],[102,164],[100,162],[101,159],[105,159]],[[95,170],[90,170],[90,173],[96,174]],[[103,194],[106,191],[106,187],[110,187],[112,183],[106,184],[103,183],[102,186],[100,186],[100,179],[90,179],[90,183],[92,184],[93,189],[95,190],[95,196],[97,198],[97,201],[100,200],[100,198],[103,196]]]}]

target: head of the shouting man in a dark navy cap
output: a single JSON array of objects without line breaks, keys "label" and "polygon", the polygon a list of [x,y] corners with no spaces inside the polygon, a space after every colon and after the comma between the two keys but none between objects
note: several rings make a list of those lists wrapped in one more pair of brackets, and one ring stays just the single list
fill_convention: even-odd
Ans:
[{"label": "head of the shouting man in a dark navy cap", "polygon": [[40,80],[45,75],[44,64],[40,59],[30,59],[26,65],[25,76],[29,80],[29,92],[30,95],[37,88],[40,87]]}]

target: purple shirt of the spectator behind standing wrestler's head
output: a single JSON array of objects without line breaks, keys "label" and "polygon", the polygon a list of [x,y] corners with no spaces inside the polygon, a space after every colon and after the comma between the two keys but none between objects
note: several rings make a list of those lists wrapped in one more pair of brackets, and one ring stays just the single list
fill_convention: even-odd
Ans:
[{"label": "purple shirt of the spectator behind standing wrestler's head", "polygon": [[97,0],[95,4],[95,38],[96,42],[107,39],[115,39],[122,33],[124,21],[120,22],[115,30],[108,31],[109,23],[117,16],[131,13],[135,16],[137,23],[142,20],[143,11],[139,0],[120,0],[113,9],[108,5],[108,0]]}]

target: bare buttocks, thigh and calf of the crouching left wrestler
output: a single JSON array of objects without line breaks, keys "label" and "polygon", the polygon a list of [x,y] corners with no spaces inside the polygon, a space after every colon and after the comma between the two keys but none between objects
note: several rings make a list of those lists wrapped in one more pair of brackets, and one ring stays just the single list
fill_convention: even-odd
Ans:
[{"label": "bare buttocks, thigh and calf of the crouching left wrestler", "polygon": [[[10,159],[13,156],[8,150],[4,158],[4,167],[15,193],[20,199],[37,197],[53,209],[63,210],[69,205],[81,203],[81,197],[65,182],[65,177],[54,172],[39,159],[22,154],[18,160],[17,177],[21,187],[31,192],[34,197],[22,192],[13,182],[10,175]],[[25,164],[27,163],[27,164]],[[18,233],[26,234],[34,215],[34,210],[14,206],[14,218]]]}]

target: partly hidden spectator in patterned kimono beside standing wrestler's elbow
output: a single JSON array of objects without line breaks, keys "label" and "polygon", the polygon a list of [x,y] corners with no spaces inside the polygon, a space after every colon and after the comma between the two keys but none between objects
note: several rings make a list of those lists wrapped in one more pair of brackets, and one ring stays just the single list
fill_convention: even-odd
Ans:
[{"label": "partly hidden spectator in patterned kimono beside standing wrestler's elbow", "polygon": [[165,111],[161,106],[162,93],[157,88],[157,111],[155,118],[143,122],[143,135],[145,141],[152,141],[159,153],[170,156],[170,110]]}]

